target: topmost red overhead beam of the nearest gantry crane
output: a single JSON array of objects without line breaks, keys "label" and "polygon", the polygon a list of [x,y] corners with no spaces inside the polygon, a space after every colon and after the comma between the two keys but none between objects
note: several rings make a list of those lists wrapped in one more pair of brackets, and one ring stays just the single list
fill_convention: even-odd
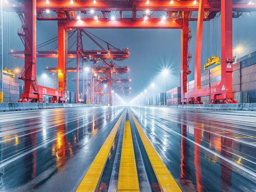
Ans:
[{"label": "topmost red overhead beam of the nearest gantry crane", "polygon": [[[49,0],[47,3],[45,0],[36,1],[36,11],[45,11],[49,9],[51,11],[90,11],[92,8],[94,11],[133,11],[133,7],[129,5],[128,1],[96,1],[93,0],[82,1],[74,0],[71,3],[69,0]],[[241,0],[233,3],[233,11],[239,12],[251,12],[256,10],[256,5],[249,5],[249,1]],[[3,1],[3,8],[6,11],[23,11],[24,1]],[[170,4],[170,0],[166,1],[149,1],[146,0],[136,1],[137,11],[145,11],[150,9],[151,11],[198,11],[199,3],[193,4],[193,1],[174,1]],[[220,1],[210,1],[205,3],[205,11],[221,11]]]}]

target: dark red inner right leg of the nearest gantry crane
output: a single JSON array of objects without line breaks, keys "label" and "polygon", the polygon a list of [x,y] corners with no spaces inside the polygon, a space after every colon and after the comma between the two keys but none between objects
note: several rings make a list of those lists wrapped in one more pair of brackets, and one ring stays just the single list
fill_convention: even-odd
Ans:
[{"label": "dark red inner right leg of the nearest gantry crane", "polygon": [[[189,31],[189,11],[183,12],[183,28],[181,29],[181,87],[183,93],[187,92],[186,83],[187,83],[187,56],[188,56],[188,31]],[[182,94],[183,96],[183,94]]]}]

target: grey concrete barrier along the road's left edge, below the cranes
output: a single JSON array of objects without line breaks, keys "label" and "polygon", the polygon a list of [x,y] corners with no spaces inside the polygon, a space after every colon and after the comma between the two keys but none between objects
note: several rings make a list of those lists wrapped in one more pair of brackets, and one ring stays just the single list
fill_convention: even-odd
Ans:
[{"label": "grey concrete barrier along the road's left edge, below the cranes", "polygon": [[99,106],[103,106],[103,105],[102,104],[70,104],[70,103],[0,103],[0,112],[67,108],[67,107],[99,107]]}]

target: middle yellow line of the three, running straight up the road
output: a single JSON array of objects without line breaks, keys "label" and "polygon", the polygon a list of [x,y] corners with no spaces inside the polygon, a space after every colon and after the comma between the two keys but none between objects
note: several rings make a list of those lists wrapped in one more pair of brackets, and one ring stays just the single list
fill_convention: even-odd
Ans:
[{"label": "middle yellow line of the three, running straight up the road", "polygon": [[129,119],[125,121],[117,192],[140,192]]}]

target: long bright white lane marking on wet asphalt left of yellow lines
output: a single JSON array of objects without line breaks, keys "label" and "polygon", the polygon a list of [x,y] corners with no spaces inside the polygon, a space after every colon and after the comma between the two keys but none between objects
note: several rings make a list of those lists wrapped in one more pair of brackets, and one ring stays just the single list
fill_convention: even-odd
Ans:
[{"label": "long bright white lane marking on wet asphalt left of yellow lines", "polygon": [[[122,114],[122,113],[121,113],[121,114]],[[98,118],[98,119],[100,119],[100,118]],[[93,121],[95,121],[95,120],[97,120],[97,119],[94,119]],[[68,131],[68,132],[66,132],[66,133],[64,133],[64,134],[62,134],[61,136],[58,136],[58,137],[56,137],[56,138],[53,138],[52,140],[47,141],[46,143],[41,144],[41,145],[39,145],[38,147],[35,147],[35,148],[32,149],[32,150],[29,150],[29,151],[27,151],[27,152],[24,152],[24,153],[22,153],[21,155],[18,155],[17,157],[12,158],[12,159],[10,159],[9,161],[6,161],[6,162],[0,164],[0,168],[6,166],[6,165],[9,164],[9,163],[12,163],[13,161],[15,161],[15,160],[17,160],[17,159],[23,157],[24,155],[29,154],[29,153],[32,152],[32,151],[35,151],[35,150],[37,150],[37,149],[43,147],[44,145],[49,144],[49,143],[52,142],[52,141],[55,141],[57,138],[60,138],[60,137],[62,137],[62,136],[65,136],[65,135],[67,135],[68,133],[73,132],[74,130],[80,129],[80,128],[83,127],[84,125],[90,124],[90,123],[93,122],[93,121],[90,121],[90,122],[87,122],[87,123],[85,123],[85,124],[82,124],[81,126],[76,127],[76,128],[74,128],[74,129],[72,129],[72,130],[70,130],[70,131]]]}]

